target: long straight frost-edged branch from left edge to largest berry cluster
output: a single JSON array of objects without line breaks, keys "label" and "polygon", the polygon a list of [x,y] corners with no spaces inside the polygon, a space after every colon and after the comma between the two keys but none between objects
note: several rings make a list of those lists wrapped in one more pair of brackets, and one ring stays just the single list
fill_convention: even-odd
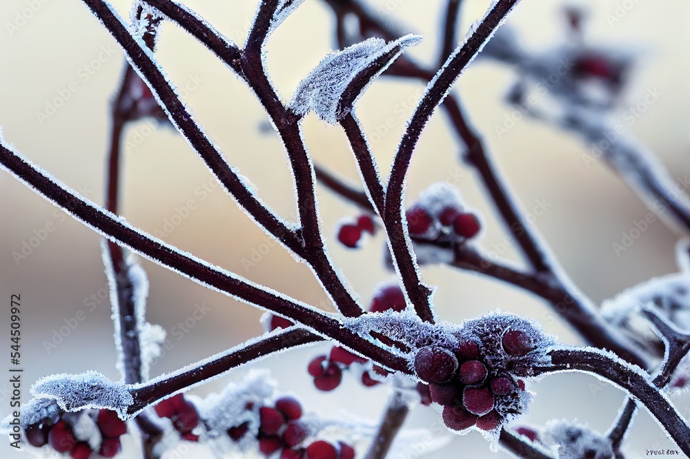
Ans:
[{"label": "long straight frost-edged branch from left edge to largest berry cluster", "polygon": [[377,361],[384,367],[403,373],[409,372],[406,360],[380,349],[371,341],[342,327],[341,323],[330,315],[267,287],[251,283],[237,274],[210,265],[195,256],[181,252],[172,245],[136,230],[117,216],[57,183],[19,154],[10,150],[5,143],[0,145],[0,163],[17,179],[32,187],[35,192],[66,210],[81,223],[103,234],[108,240],[117,241],[120,245],[124,245],[149,260],[201,285],[243,300],[250,305],[268,309],[279,316],[288,317],[297,323],[310,327],[317,334],[344,343],[354,351]]}]

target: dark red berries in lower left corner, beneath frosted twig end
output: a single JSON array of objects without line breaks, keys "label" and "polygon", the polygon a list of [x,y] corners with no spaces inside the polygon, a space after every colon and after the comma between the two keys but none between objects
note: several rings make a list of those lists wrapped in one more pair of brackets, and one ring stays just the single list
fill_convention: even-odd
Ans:
[{"label": "dark red berries in lower left corner, beneath frosted twig end", "polygon": [[[96,425],[103,440],[97,451],[93,450],[86,439],[75,437],[72,421],[77,416],[95,417]],[[103,458],[113,458],[122,449],[120,437],[127,433],[127,424],[117,417],[115,411],[108,409],[86,410],[68,416],[57,416],[55,419],[43,420],[28,425],[24,431],[30,445],[40,448],[50,445],[58,453],[70,455],[73,459],[88,459],[92,453],[98,453]]]}]

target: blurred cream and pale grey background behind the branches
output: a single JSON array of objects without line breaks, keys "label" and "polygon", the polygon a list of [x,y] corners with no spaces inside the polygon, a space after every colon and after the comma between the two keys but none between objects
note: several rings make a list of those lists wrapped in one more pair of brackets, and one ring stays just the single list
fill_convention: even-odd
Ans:
[{"label": "blurred cream and pale grey background behind the branches", "polygon": [[[128,14],[128,0],[114,3],[121,14]],[[254,0],[184,3],[237,43],[244,42],[256,8]],[[371,1],[386,19],[400,23],[402,30],[426,37],[422,45],[408,51],[425,63],[437,60],[444,3]],[[465,1],[462,30],[479,19],[488,4]],[[642,100],[648,88],[658,88],[662,96],[634,124],[625,125],[627,134],[658,154],[673,177],[687,177],[690,32],[686,21],[690,5],[678,0],[580,0],[571,4],[589,10],[588,41],[639,51],[620,112]],[[561,2],[525,0],[509,22],[531,49],[546,50],[564,40],[562,6]],[[611,23],[616,8],[622,8],[624,14],[620,21]],[[270,39],[268,70],[284,99],[290,98],[299,80],[335,47],[333,25],[333,15],[324,3],[308,0]],[[124,64],[115,41],[77,0],[3,0],[0,26],[3,135],[50,174],[102,204],[109,101]],[[462,36],[464,32],[460,32]],[[164,26],[161,32],[157,57],[170,79],[180,88],[188,88],[184,101],[230,164],[255,184],[259,196],[279,214],[286,218],[294,216],[293,184],[282,145],[270,129],[266,130],[266,115],[244,83],[172,25]],[[582,155],[589,152],[587,145],[575,136],[530,120],[518,122],[498,138],[495,126],[502,125],[512,110],[502,102],[511,81],[511,70],[477,61],[457,82],[455,91],[462,95],[471,119],[486,136],[486,143],[524,208],[531,210],[537,200],[551,204],[535,225],[573,281],[595,303],[600,303],[635,283],[675,272],[673,246],[678,234],[660,221],[650,225],[629,249],[618,256],[614,253],[613,243],[620,243],[622,234],[628,233],[634,222],[649,211],[601,161],[589,167],[585,164]],[[71,83],[78,90],[70,91],[70,97],[55,114],[39,119],[37,113],[45,112],[46,104]],[[418,83],[383,78],[371,85],[359,101],[357,116],[375,140],[373,150],[384,175],[388,174],[401,132],[421,90]],[[393,128],[382,134],[382,125],[388,118],[393,119]],[[304,132],[316,161],[356,183],[357,172],[342,130],[325,126],[312,115],[304,122]],[[130,126],[126,142],[130,144],[124,154],[121,210],[130,223],[147,232],[165,231],[166,220],[193,201],[195,209],[164,238],[168,243],[299,300],[331,308],[311,272],[284,249],[270,244],[270,238],[215,186],[206,167],[181,136],[172,129],[152,129],[140,122]],[[435,115],[413,160],[408,201],[430,183],[453,181],[466,202],[485,217],[482,246],[502,252],[499,245],[505,236],[504,229],[473,173],[458,163],[457,152],[449,124],[442,114]],[[206,194],[199,191],[205,184],[210,190]],[[322,187],[318,196],[333,261],[342,267],[366,304],[377,283],[392,278],[382,263],[384,239],[379,234],[364,249],[344,249],[335,241],[336,222],[355,216],[358,211]],[[0,209],[0,334],[9,336],[6,324],[10,294],[19,293],[23,400],[30,397],[30,384],[47,374],[93,369],[117,380],[99,236],[65,217],[6,172],[0,172]],[[51,222],[55,231],[30,256],[15,261],[12,252],[21,251],[23,242],[34,236],[34,231]],[[253,254],[255,263],[249,265],[246,261],[251,261]],[[260,254],[258,258],[256,254]],[[513,247],[507,247],[502,256],[519,263]],[[261,312],[253,307],[210,292],[148,261],[142,260],[141,265],[150,280],[148,319],[164,327],[172,343],[172,348],[155,363],[152,374],[175,370],[261,332]],[[517,289],[449,267],[425,267],[424,280],[437,285],[435,308],[444,320],[457,323],[502,308],[540,320],[563,343],[580,343],[580,338],[562,321],[554,319],[544,303]],[[95,305],[88,303],[91,297],[95,298]],[[210,308],[208,314],[195,320],[187,332],[179,333],[178,324],[184,323],[202,304]],[[70,319],[79,311],[86,313],[86,319],[61,341],[55,338],[59,328],[73,323]],[[55,346],[46,344],[51,341]],[[250,368],[270,367],[279,381],[279,390],[297,394],[306,409],[333,417],[342,416],[345,410],[375,422],[386,400],[386,388],[364,389],[345,378],[344,385],[331,394],[313,390],[304,367],[320,350],[311,347],[271,357],[194,392],[204,396],[220,391],[228,381],[240,380]],[[9,363],[3,358],[2,374],[7,374],[7,367]],[[2,382],[6,380],[0,377],[2,416],[10,411],[8,385]],[[617,389],[578,374],[551,376],[533,385],[532,390],[535,400],[520,422],[534,425],[543,425],[553,418],[576,418],[605,431],[624,400]],[[681,396],[674,401],[687,417],[690,398]],[[440,416],[435,411],[418,407],[406,427],[428,428],[438,422]],[[0,456],[15,457],[7,443],[0,442]],[[426,443],[422,436],[421,451],[400,457],[417,457],[426,449]],[[649,415],[641,412],[629,436],[629,457],[643,457],[647,449],[657,447],[666,449],[673,445]],[[190,451],[188,457],[201,456]],[[448,446],[431,457],[508,456],[502,451],[492,452],[489,443],[472,432],[453,436]]]}]

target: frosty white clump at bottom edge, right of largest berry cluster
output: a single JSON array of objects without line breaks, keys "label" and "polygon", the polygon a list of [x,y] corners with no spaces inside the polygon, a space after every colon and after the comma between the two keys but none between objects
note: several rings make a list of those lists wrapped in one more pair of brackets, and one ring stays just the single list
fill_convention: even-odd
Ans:
[{"label": "frosty white clump at bottom edge, right of largest berry cluster", "polygon": [[569,420],[547,422],[540,440],[558,451],[559,459],[611,459],[613,456],[613,445],[607,436]]}]

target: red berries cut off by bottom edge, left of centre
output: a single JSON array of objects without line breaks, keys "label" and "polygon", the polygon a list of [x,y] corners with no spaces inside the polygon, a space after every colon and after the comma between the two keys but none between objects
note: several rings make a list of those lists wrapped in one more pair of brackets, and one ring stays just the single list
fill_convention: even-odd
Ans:
[{"label": "red berries cut off by bottom edge, left of centre", "polygon": [[[254,409],[253,403],[247,409]],[[353,447],[339,442],[317,440],[311,445],[302,445],[309,431],[299,418],[302,418],[302,405],[292,397],[282,397],[275,406],[259,407],[259,451],[268,457],[280,451],[280,459],[354,459]],[[228,436],[239,442],[249,431],[249,422],[243,422],[228,429]]]}]

